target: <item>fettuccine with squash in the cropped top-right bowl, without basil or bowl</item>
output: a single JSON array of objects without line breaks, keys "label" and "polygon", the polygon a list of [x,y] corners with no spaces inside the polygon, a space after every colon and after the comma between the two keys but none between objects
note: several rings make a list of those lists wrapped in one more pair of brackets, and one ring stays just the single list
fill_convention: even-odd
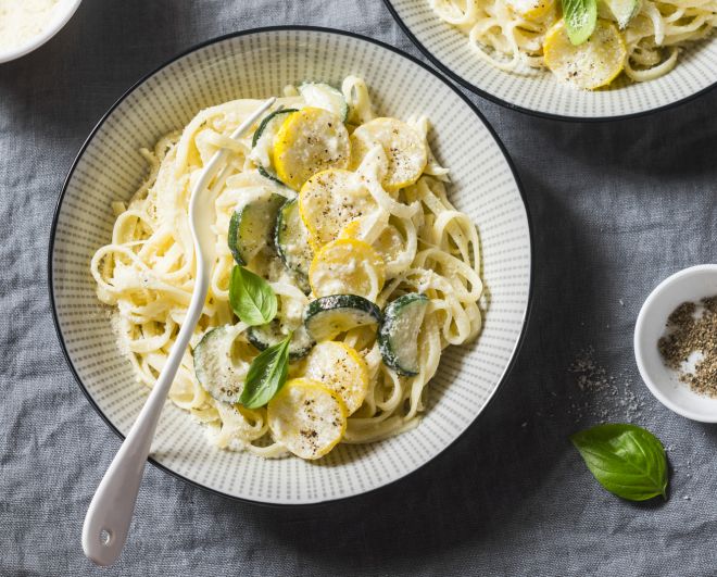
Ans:
[{"label": "fettuccine with squash in the cropped top-right bowl, without basil or bowl", "polygon": [[677,65],[680,47],[706,38],[717,24],[717,0],[599,0],[591,40],[573,46],[558,0],[426,1],[492,66],[546,67],[583,89],[607,86],[621,72],[633,81],[658,78]]}]

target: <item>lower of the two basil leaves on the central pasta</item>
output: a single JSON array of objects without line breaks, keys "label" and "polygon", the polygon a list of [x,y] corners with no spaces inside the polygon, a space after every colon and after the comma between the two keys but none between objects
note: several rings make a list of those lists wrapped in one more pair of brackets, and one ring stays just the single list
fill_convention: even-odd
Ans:
[{"label": "lower of the two basil leaves on the central pasta", "polygon": [[289,372],[289,342],[291,333],[252,361],[239,398],[247,409],[264,406],[284,387]]}]

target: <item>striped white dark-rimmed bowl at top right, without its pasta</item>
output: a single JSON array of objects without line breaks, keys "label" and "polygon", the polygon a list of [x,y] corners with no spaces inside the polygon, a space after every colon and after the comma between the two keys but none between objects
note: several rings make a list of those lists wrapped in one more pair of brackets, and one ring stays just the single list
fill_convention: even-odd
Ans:
[{"label": "striped white dark-rimmed bowl at top right, without its pasta", "polygon": [[575,90],[549,72],[518,75],[476,57],[467,37],[441,21],[428,0],[385,0],[414,43],[442,72],[499,104],[559,120],[605,121],[654,112],[684,102],[717,85],[717,39],[695,42],[680,53],[669,74],[647,83],[618,80],[609,90]]}]

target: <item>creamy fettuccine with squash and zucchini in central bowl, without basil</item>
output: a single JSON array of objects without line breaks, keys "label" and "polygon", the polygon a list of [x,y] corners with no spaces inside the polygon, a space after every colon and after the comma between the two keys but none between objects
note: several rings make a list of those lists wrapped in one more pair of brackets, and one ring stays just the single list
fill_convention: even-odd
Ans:
[{"label": "creamy fettuccine with squash and zucchini in central bowl, without basil", "polygon": [[[228,149],[210,185],[209,294],[169,399],[219,448],[316,459],[419,423],[441,351],[481,329],[479,238],[449,201],[426,117],[377,117],[364,81],[348,77],[341,90],[287,87],[253,134],[231,140],[259,105],[205,109],[142,150],[147,180],[113,203],[112,239],[90,268],[123,354],[152,387],[193,290],[190,190]],[[237,318],[229,283],[239,264],[276,293],[269,325]],[[252,361],[289,334],[289,379],[267,406],[247,409],[237,399]]]}]

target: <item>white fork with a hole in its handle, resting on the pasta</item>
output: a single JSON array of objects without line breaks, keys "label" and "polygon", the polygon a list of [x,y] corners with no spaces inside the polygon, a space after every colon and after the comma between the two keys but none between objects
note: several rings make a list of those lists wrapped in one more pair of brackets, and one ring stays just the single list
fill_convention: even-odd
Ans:
[{"label": "white fork with a hole in its handle, resting on the pasta", "polygon": [[[264,102],[256,112],[234,131],[231,138],[241,137],[275,101],[276,98],[271,98]],[[87,510],[83,527],[83,549],[85,555],[98,565],[114,563],[125,544],[133,512],[135,511],[139,485],[144,472],[144,463],[150,452],[164,401],[189,344],[189,339],[194,333],[194,327],[202,314],[209,290],[210,269],[215,258],[214,244],[216,241],[212,231],[214,199],[209,198],[211,195],[204,195],[204,191],[226,161],[227,154],[226,149],[222,149],[214,154],[191,191],[189,228],[194,241],[197,280],[185,322],[179,329],[177,340],[172,347],[166,364],[152,388],[152,392],[144,406],[142,406],[127,438],[122,443],[120,451],[117,451],[110,468],[104,474]]]}]

